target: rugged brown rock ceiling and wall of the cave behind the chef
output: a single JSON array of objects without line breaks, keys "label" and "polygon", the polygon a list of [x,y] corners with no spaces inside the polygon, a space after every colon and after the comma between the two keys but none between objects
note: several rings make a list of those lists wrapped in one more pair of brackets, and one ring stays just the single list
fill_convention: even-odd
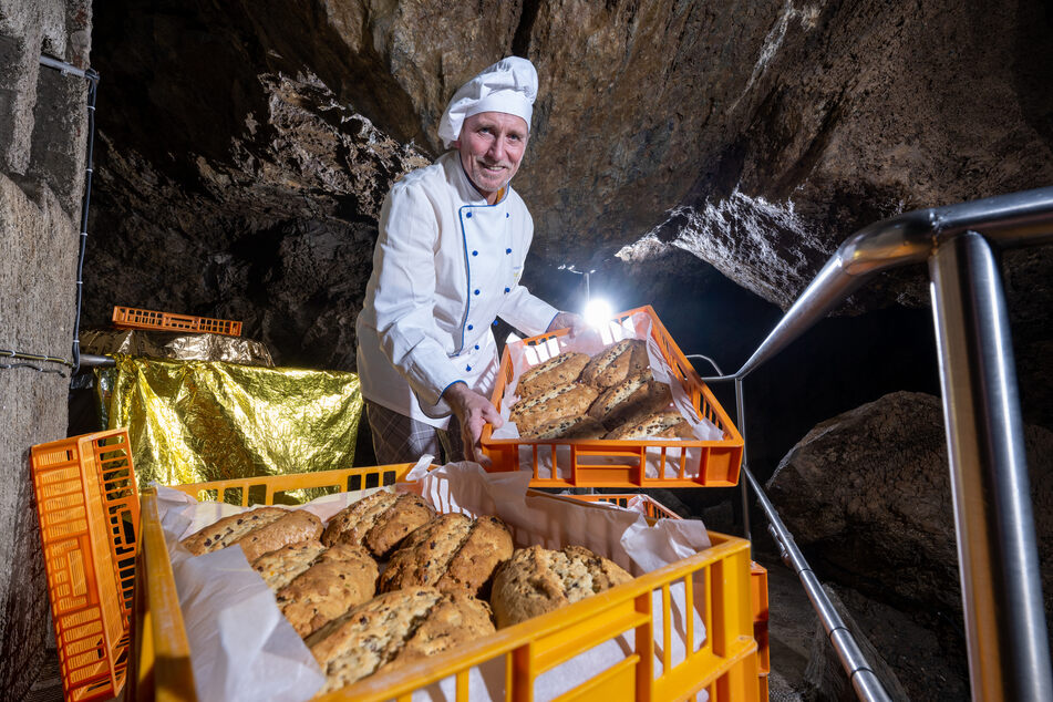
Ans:
[{"label": "rugged brown rock ceiling and wall of the cave behind the chef", "polygon": [[[1053,180],[1049,10],[991,4],[96,3],[86,319],[241,319],[279,360],[352,368],[383,197],[507,54],[540,78],[528,285],[696,267],[785,309],[876,219]],[[1047,321],[1051,256],[1006,260],[1044,300],[1018,317]],[[921,273],[855,308],[925,304]]]}]

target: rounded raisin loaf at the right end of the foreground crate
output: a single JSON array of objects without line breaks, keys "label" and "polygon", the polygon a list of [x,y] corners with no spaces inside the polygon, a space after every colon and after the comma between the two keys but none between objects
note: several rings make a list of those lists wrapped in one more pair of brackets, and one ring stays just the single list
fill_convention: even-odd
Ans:
[{"label": "rounded raisin loaf at the right end of the foreground crate", "polygon": [[497,570],[491,605],[497,627],[510,627],[631,579],[620,566],[582,546],[558,551],[530,546],[516,550]]}]

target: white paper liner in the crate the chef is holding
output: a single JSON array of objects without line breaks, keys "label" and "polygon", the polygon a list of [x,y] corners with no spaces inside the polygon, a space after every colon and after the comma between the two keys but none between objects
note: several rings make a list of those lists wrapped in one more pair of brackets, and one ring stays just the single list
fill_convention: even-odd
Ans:
[{"label": "white paper liner in the crate the chef is holding", "polygon": [[[608,345],[623,339],[647,340],[647,352],[651,362],[651,374],[654,376],[654,380],[669,385],[670,393],[673,398],[672,404],[688,421],[688,424],[691,425],[691,432],[694,437],[700,441],[720,441],[723,438],[724,434],[720,429],[716,427],[716,425],[714,425],[706,417],[700,419],[698,416],[695,409],[691,403],[691,396],[688,395],[686,391],[683,389],[683,385],[679,380],[677,380],[673,370],[669,367],[669,363],[665,362],[665,358],[658,348],[658,343],[651,335],[651,318],[644,312],[633,312],[620,323],[610,321],[602,329],[589,330],[574,337],[570,334],[554,337],[546,340],[544,343],[533,347],[522,342],[509,343],[506,348],[508,349],[514,372],[512,382],[505,386],[505,393],[502,398],[499,407],[500,416],[505,420],[505,424],[499,429],[494,430],[494,433],[492,434],[493,438],[519,438],[519,430],[514,422],[508,420],[508,416],[512,413],[512,405],[517,399],[515,391],[516,385],[518,384],[519,375],[524,371],[533,365],[543,363],[548,359],[567,351],[577,351],[579,353],[596,355]],[[648,447],[644,453],[647,461],[647,465],[644,466],[644,475],[650,478],[657,478],[659,476],[660,467],[664,467],[662,477],[679,477],[682,452],[685,453],[684,477],[698,477],[699,466],[701,465],[702,460],[702,450],[698,446],[689,446],[686,448],[667,446],[664,466],[660,466],[662,463],[661,450],[657,447]],[[556,465],[555,477],[560,479],[570,479],[570,445],[559,443],[537,445],[538,477],[554,477],[554,454]],[[579,458],[580,465],[619,465],[623,462],[624,458],[617,456],[584,456]],[[519,446],[519,469],[530,472],[534,471],[533,445]]]}]

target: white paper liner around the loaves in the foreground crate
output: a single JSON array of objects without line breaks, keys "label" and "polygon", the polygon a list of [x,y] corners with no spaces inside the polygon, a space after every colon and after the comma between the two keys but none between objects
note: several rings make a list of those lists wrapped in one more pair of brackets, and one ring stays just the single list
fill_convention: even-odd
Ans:
[{"label": "white paper liner around the loaves in the foreground crate", "polygon": [[[643,515],[608,505],[585,505],[569,497],[558,499],[526,495],[529,475],[487,474],[475,463],[450,464],[427,472],[431,456],[422,457],[412,486],[440,512],[492,514],[512,529],[516,546],[546,548],[578,544],[606,556],[633,576],[661,568],[710,547],[701,522],[660,519],[648,526]],[[182,492],[155,485],[158,512],[168,546],[179,606],[183,610],[190,662],[199,700],[308,700],[323,677],[310,650],[281,616],[271,590],[249,567],[240,547],[192,556],[179,540],[241,508],[197,503]],[[384,489],[384,488],[381,488]],[[300,507],[323,522],[375,489],[340,493]],[[704,598],[701,578],[693,581],[696,607]],[[671,585],[671,663],[684,660],[686,648],[683,581]],[[652,593],[654,615],[654,674],[662,672],[662,598]],[[705,628],[698,610],[693,619],[694,648],[701,648]],[[535,699],[548,700],[624,660],[634,650],[632,630],[580,653],[535,681]],[[472,700],[505,699],[505,658],[498,657],[469,673]],[[426,661],[424,661],[426,670]],[[412,668],[412,665],[410,667]],[[409,670],[409,668],[407,668]],[[416,691],[413,699],[451,700],[455,681],[446,679]],[[705,699],[704,691],[699,699]]]}]

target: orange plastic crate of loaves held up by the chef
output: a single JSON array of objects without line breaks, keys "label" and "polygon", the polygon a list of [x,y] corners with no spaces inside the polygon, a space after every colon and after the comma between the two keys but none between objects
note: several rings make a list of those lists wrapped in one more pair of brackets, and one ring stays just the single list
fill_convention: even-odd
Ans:
[{"label": "orange plastic crate of loaves held up by the chef", "polygon": [[[612,321],[621,323],[638,312],[650,318],[651,331],[662,357],[682,383],[698,416],[712,422],[723,433],[722,438],[494,438],[494,427],[487,424],[483,427],[481,443],[483,453],[493,464],[488,471],[519,471],[529,466],[534,471],[530,481],[533,487],[726,487],[739,483],[742,435],[650,306],[622,312]],[[567,330],[560,330],[540,334],[525,339],[522,343],[540,345],[566,333]],[[500,359],[497,384],[491,398],[495,407],[500,406],[505,388],[512,382],[514,372],[512,357],[506,348]],[[561,452],[569,456],[567,469],[557,471],[554,465],[546,471],[548,475],[543,475],[539,456],[547,456],[555,464]],[[647,474],[649,460],[658,466],[651,476]],[[670,475],[671,472],[674,475]]]}]

